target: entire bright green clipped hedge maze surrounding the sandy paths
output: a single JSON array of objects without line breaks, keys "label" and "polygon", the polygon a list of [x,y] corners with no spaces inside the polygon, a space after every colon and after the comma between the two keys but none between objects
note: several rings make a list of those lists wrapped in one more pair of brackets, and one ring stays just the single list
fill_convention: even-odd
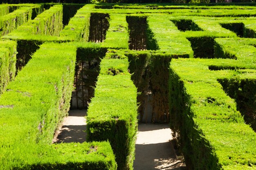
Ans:
[{"label": "entire bright green clipped hedge maze surrounding the sandy paths", "polygon": [[[256,169],[254,6],[0,4],[0,169],[132,170],[138,113],[188,169]],[[70,107],[88,142],[52,144]]]}]

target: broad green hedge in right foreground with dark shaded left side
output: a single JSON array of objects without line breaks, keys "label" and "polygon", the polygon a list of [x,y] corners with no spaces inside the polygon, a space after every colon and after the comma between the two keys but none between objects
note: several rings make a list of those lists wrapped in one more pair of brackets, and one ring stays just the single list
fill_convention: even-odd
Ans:
[{"label": "broad green hedge in right foreground with dark shaded left side", "polygon": [[[225,59],[172,60],[169,84],[171,128],[181,144],[186,166],[191,169],[256,168],[253,142],[256,134],[244,123],[236,111],[235,100],[225,94],[219,83],[223,82],[227,89],[232,79],[242,76],[248,81],[246,86],[250,86],[250,79],[255,80],[255,71],[209,70],[210,64],[218,62],[225,62]],[[246,86],[240,94],[254,92],[248,91]],[[232,92],[236,93],[236,90]],[[255,102],[255,99],[251,100]]]}]

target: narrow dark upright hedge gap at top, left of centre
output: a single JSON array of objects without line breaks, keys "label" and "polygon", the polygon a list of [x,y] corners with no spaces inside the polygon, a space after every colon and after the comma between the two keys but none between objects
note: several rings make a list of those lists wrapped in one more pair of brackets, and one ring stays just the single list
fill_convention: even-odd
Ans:
[{"label": "narrow dark upright hedge gap at top, left of centre", "polygon": [[109,28],[110,16],[108,13],[91,13],[89,41],[103,42]]}]

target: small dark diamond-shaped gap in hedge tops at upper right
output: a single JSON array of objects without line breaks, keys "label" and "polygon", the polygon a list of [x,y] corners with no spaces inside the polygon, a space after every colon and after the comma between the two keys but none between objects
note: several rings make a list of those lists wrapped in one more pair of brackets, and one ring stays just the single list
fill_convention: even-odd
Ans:
[{"label": "small dark diamond-shaped gap in hedge tops at upper right", "polygon": [[181,19],[171,20],[180,31],[203,31],[195,22],[192,20]]}]

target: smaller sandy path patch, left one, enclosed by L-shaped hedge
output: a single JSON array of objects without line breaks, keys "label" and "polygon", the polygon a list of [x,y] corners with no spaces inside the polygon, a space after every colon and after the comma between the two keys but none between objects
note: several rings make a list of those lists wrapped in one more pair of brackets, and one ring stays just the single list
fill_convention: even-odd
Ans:
[{"label": "smaller sandy path patch, left one, enclosed by L-shaped hedge", "polygon": [[64,118],[62,127],[54,137],[53,143],[70,143],[86,141],[86,115],[87,110],[70,110],[68,117]]}]

